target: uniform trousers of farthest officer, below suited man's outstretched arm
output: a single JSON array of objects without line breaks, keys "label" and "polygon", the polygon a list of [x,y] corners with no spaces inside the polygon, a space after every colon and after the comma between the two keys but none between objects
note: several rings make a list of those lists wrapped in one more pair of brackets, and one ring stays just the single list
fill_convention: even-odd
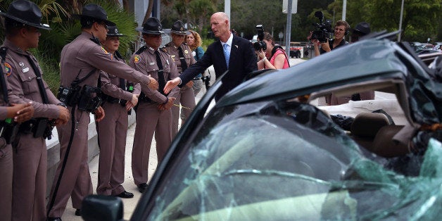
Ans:
[{"label": "uniform trousers of farthest officer, below suited man's outstretched arm", "polygon": [[[195,95],[194,90],[185,86],[179,90],[179,95],[175,100],[175,104],[181,103],[184,108],[181,108],[181,115],[179,114],[179,106],[172,106],[172,137],[175,137],[178,133],[178,121],[181,116],[181,125],[189,118],[190,114],[195,108]],[[189,109],[190,108],[190,109]]]}]

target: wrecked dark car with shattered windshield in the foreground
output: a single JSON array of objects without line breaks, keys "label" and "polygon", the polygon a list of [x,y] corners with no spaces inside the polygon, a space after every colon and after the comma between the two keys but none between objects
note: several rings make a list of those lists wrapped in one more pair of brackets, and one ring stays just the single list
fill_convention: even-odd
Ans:
[{"label": "wrecked dark car with shattered windshield in the foreground", "polygon": [[[441,220],[441,56],[426,65],[386,37],[252,73],[212,107],[218,80],[131,220]],[[367,90],[385,97],[323,102]],[[101,199],[85,220],[122,213]]]}]

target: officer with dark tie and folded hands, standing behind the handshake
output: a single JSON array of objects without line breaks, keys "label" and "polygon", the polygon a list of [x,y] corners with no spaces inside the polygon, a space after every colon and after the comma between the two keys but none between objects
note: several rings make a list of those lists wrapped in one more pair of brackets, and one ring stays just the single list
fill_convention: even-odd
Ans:
[{"label": "officer with dark tie and folded hands, standing behind the handshake", "polygon": [[158,162],[165,156],[172,142],[172,112],[170,108],[178,94],[178,88],[163,94],[165,82],[178,76],[177,65],[168,53],[158,49],[161,45],[161,24],[157,18],[149,18],[143,27],[137,28],[143,34],[146,46],[141,47],[130,58],[130,65],[136,70],[151,75],[160,87],[158,90],[141,85],[141,95],[137,106],[137,126],[135,127],[132,149],[132,175],[139,191],[147,188],[149,151],[155,132]]}]

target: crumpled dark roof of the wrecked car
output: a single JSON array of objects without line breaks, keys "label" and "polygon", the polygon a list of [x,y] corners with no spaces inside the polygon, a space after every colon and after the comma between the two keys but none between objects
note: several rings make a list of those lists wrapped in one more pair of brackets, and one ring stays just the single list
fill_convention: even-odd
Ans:
[{"label": "crumpled dark roof of the wrecked car", "polygon": [[[218,106],[267,99],[291,99],[322,89],[381,78],[403,79],[412,118],[419,124],[441,122],[442,85],[395,42],[367,39],[240,84]],[[271,85],[269,85],[271,84]]]}]

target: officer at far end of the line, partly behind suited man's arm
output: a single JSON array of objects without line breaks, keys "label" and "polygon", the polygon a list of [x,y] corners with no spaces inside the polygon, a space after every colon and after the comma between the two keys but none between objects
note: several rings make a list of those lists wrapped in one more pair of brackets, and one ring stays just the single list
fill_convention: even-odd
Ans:
[{"label": "officer at far end of the line, partly behind suited man's arm", "polygon": [[[168,30],[172,36],[172,42],[165,45],[164,49],[174,59],[177,64],[178,72],[181,73],[186,70],[187,67],[196,63],[192,50],[189,45],[185,43],[186,36],[190,32],[184,27],[182,21],[177,20],[173,23],[172,28]],[[192,89],[194,86],[193,81],[189,81],[184,87],[179,90],[177,100],[175,100],[175,106],[172,106],[172,137],[175,137],[178,132],[178,120],[181,116],[181,125],[184,124],[192,110],[195,108],[195,94]],[[181,115],[179,114],[179,104],[181,103]]]}]

